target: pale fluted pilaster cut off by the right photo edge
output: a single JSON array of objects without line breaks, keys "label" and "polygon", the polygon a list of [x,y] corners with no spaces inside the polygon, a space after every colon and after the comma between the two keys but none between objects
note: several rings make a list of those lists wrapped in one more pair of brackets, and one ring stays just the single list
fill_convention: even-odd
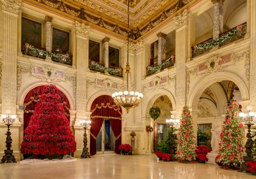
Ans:
[{"label": "pale fluted pilaster cut off by the right photo edge", "polygon": [[250,105],[256,110],[256,1],[250,1]]}]

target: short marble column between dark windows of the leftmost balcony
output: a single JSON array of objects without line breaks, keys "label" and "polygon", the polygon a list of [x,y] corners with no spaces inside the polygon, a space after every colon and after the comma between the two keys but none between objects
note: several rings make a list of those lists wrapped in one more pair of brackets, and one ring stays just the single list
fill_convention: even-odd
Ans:
[{"label": "short marble column between dark windows of the leftmost balcony", "polygon": [[[46,51],[52,52],[52,17],[45,17],[45,40],[46,40]],[[52,61],[51,57],[46,57],[46,61]]]}]

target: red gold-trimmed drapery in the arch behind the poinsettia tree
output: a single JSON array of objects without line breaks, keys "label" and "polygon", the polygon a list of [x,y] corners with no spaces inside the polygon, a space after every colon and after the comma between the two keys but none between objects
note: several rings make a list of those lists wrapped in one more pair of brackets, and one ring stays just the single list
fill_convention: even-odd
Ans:
[{"label": "red gold-trimmed drapery in the arch behind the poinsettia tree", "polygon": [[[28,92],[28,94],[26,95],[25,99],[24,99],[24,105],[26,106],[25,113],[24,113],[24,130],[29,125],[30,117],[34,113],[35,105],[38,102],[41,94],[44,92],[45,86],[46,85],[41,85],[41,86],[37,86],[37,87],[31,89]],[[61,102],[64,105],[65,115],[67,116],[68,120],[70,121],[70,113],[69,113],[70,104],[69,104],[69,100],[66,97],[66,95],[63,94],[60,90],[58,91],[58,95],[60,96]]]}]

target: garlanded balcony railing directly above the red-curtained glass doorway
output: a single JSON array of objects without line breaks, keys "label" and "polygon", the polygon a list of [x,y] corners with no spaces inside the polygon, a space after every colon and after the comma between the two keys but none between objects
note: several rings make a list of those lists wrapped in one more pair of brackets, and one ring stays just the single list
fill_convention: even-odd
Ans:
[{"label": "garlanded balcony railing directly above the red-curtained glass doorway", "polygon": [[109,66],[109,68],[106,68],[104,64],[96,61],[89,61],[89,69],[95,72],[109,73],[110,75],[123,77],[123,69],[115,66]]}]

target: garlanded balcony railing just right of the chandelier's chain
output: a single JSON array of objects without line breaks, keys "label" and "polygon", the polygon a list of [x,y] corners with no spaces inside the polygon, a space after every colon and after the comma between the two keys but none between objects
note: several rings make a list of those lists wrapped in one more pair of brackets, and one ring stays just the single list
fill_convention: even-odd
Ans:
[{"label": "garlanded balcony railing just right of the chandelier's chain", "polygon": [[174,63],[175,63],[175,55],[173,55],[172,57],[167,58],[165,60],[162,60],[162,64],[160,64],[160,65],[153,64],[151,66],[147,66],[146,76],[152,75],[152,74],[156,73],[157,71],[167,69],[167,68],[173,66]]}]

